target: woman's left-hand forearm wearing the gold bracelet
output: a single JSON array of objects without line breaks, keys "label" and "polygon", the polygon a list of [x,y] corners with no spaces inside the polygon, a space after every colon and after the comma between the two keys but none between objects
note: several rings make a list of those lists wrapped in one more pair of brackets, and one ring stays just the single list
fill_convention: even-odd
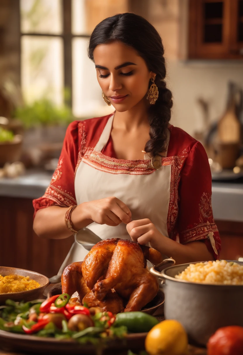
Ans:
[{"label": "woman's left-hand forearm wearing the gold bracelet", "polygon": [[[69,207],[50,206],[39,209],[33,223],[36,234],[48,239],[64,239],[72,235],[65,223],[65,214]],[[71,213],[71,223],[74,230],[86,227],[93,221],[88,219],[84,204],[75,207]]]}]

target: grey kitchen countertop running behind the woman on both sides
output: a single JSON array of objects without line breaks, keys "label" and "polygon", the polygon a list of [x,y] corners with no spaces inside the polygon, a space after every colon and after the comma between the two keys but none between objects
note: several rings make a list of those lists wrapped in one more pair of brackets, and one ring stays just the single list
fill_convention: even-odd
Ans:
[{"label": "grey kitchen countertop running behind the woman on both sides", "polygon": [[[0,180],[0,196],[38,198],[52,178],[52,172],[28,170],[23,176]],[[243,222],[243,182],[212,182],[212,208],[216,220]]]}]

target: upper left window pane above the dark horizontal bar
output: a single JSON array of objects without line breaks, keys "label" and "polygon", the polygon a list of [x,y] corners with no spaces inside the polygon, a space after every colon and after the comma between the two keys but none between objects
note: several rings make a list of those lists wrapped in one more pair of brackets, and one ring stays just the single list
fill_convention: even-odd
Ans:
[{"label": "upper left window pane above the dark horizontal bar", "polygon": [[61,0],[21,0],[21,32],[60,34]]}]

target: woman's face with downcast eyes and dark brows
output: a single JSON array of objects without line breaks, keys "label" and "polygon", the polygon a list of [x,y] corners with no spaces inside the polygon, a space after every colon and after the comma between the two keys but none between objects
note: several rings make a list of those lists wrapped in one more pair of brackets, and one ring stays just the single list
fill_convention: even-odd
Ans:
[{"label": "woman's face with downcast eyes and dark brows", "polygon": [[146,100],[155,74],[134,48],[121,42],[99,44],[93,56],[98,83],[117,111],[127,111]]}]

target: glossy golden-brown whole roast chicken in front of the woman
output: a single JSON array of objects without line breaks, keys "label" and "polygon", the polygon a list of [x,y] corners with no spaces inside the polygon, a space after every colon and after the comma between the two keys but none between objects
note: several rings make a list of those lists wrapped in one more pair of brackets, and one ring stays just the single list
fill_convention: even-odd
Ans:
[{"label": "glossy golden-brown whole roast chicken in front of the woman", "polygon": [[83,262],[64,269],[62,292],[72,295],[77,291],[81,303],[104,311],[139,311],[158,292],[158,282],[148,271],[146,260],[160,263],[161,253],[126,239],[102,240]]}]

